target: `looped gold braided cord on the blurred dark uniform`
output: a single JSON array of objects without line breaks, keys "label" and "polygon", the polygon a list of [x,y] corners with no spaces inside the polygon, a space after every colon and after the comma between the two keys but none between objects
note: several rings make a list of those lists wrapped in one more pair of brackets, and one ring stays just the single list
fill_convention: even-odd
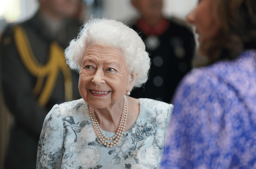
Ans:
[{"label": "looped gold braided cord on the blurred dark uniform", "polygon": [[[20,26],[14,27],[14,39],[20,58],[26,69],[35,77],[37,82],[33,89],[34,95],[38,97],[38,103],[44,107],[52,94],[56,84],[59,71],[63,73],[65,84],[65,101],[72,100],[72,76],[69,67],[66,65],[64,50],[57,42],[50,44],[49,60],[45,65],[38,63],[33,54],[27,34]],[[45,84],[44,78],[46,77]]]}]

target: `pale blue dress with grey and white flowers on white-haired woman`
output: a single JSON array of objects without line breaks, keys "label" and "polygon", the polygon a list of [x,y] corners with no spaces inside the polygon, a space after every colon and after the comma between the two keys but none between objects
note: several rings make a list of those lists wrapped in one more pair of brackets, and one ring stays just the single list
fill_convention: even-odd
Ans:
[{"label": "pale blue dress with grey and white flowers on white-haired woman", "polygon": [[[138,119],[113,148],[106,148],[98,141],[83,99],[55,105],[44,121],[37,168],[158,168],[173,105],[152,99],[139,100]],[[156,133],[138,138],[136,129],[150,123],[156,125]],[[103,133],[106,137],[114,135]]]}]

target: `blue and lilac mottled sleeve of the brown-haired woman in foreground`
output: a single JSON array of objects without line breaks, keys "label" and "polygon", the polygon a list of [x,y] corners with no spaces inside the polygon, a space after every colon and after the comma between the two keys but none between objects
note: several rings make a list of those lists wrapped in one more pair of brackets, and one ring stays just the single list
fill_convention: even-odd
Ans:
[{"label": "blue and lilac mottled sleeve of the brown-haired woman in foreground", "polygon": [[[212,168],[227,97],[218,78],[186,76],[175,99],[161,169]],[[213,167],[214,168],[214,167]]]}]

